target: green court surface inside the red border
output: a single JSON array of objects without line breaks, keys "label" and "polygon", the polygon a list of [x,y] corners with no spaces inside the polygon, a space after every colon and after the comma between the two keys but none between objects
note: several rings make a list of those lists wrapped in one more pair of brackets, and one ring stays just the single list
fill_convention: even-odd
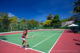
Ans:
[{"label": "green court surface inside the red border", "polygon": [[[33,36],[32,38],[27,39],[29,48],[48,53],[58,38],[61,36],[62,32],[63,31],[56,30],[28,32],[29,36]],[[22,33],[0,36],[0,39],[21,45],[21,36]]]}]

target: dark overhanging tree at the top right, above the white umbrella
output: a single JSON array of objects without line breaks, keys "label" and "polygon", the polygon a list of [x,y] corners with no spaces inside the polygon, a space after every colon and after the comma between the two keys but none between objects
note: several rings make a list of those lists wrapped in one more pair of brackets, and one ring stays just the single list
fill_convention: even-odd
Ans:
[{"label": "dark overhanging tree at the top right, above the white umbrella", "polygon": [[79,25],[79,30],[80,30],[80,0],[77,0],[74,2],[74,17],[75,17],[75,23]]}]

